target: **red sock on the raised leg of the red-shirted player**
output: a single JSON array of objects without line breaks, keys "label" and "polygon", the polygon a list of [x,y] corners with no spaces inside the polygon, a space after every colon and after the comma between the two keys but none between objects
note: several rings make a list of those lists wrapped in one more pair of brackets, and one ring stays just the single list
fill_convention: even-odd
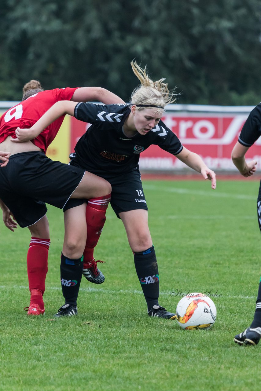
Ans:
[{"label": "red sock on the raised leg of the red-shirted player", "polygon": [[88,263],[94,259],[94,247],[98,243],[101,231],[106,220],[106,210],[111,199],[111,194],[104,197],[90,198],[86,207],[87,240],[83,251],[83,268],[88,268]]}]

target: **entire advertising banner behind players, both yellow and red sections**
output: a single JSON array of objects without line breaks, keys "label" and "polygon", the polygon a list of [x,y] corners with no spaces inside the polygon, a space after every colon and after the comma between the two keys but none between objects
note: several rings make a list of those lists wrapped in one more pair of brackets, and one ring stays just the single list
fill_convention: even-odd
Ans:
[{"label": "entire advertising banner behind players, both yellow and red sections", "polygon": [[[16,102],[2,102],[2,112]],[[0,103],[1,107],[1,103]],[[254,106],[197,106],[169,105],[162,117],[164,123],[190,151],[199,154],[208,167],[214,170],[235,170],[230,155],[239,133]],[[1,112],[0,112],[1,113]],[[47,150],[53,160],[67,163],[79,138],[90,124],[66,116],[55,140]],[[261,167],[261,138],[246,154],[249,160],[257,160]],[[187,168],[175,156],[151,145],[140,154],[140,169],[146,171],[171,171]]]}]

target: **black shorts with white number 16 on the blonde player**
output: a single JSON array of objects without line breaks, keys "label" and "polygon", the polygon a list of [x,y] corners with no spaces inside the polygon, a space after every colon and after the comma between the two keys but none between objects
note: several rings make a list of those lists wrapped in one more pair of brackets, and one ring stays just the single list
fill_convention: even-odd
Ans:
[{"label": "black shorts with white number 16 on the blonde player", "polygon": [[[138,169],[117,176],[106,173],[96,175],[106,179],[112,185],[112,198],[110,203],[118,218],[120,218],[120,212],[128,212],[129,210],[135,209],[148,210]],[[87,201],[83,199],[70,199],[65,205],[65,208],[63,208],[63,211],[65,212],[67,209],[81,205],[83,202]]]}]

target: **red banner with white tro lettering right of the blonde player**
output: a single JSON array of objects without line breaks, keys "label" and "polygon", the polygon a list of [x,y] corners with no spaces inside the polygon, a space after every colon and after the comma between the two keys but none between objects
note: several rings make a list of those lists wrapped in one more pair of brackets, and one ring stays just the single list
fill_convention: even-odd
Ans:
[{"label": "red banner with white tro lettering right of the blonde player", "polygon": [[[239,133],[247,119],[244,115],[211,115],[166,113],[163,122],[180,139],[182,145],[199,154],[211,169],[236,170],[230,158]],[[261,140],[247,152],[247,159],[256,159],[261,167]],[[151,145],[140,154],[140,169],[175,170],[185,165],[157,145]]]}]

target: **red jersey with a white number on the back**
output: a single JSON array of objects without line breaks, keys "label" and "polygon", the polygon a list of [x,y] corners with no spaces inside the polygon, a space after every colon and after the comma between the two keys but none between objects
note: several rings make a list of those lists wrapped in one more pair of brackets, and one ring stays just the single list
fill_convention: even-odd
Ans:
[{"label": "red jersey with a white number on the back", "polygon": [[[17,127],[21,129],[32,127],[45,111],[54,103],[58,102],[58,100],[71,100],[77,88],[79,87],[55,88],[54,90],[41,91],[7,110],[0,118],[0,143],[7,136],[16,138],[15,130]],[[39,136],[31,140],[31,142],[46,153],[47,147],[57,135],[64,117],[63,115],[52,122]]]}]

